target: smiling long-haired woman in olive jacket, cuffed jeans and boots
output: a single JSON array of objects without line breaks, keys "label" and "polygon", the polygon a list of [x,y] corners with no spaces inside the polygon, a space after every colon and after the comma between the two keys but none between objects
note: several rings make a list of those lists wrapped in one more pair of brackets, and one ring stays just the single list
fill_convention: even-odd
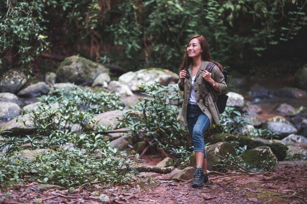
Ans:
[{"label": "smiling long-haired woman in olive jacket, cuffed jeans and boots", "polygon": [[[184,129],[187,122],[196,157],[192,187],[202,187],[209,182],[204,133],[213,124],[220,122],[216,106],[217,95],[224,94],[227,90],[224,75],[216,65],[211,72],[205,70],[210,59],[205,37],[196,35],[189,40],[186,55],[179,68],[179,89],[184,91],[180,128]],[[207,83],[206,86],[203,83]]]}]

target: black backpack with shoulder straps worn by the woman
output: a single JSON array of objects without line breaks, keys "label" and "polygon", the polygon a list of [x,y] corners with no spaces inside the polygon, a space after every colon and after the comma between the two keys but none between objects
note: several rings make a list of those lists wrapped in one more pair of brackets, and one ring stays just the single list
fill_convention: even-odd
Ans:
[{"label": "black backpack with shoulder straps worn by the woman", "polygon": [[[211,72],[212,71],[212,68],[215,66],[215,64],[213,62],[209,62],[208,65],[206,66],[205,70],[207,70],[208,72]],[[219,68],[220,69],[220,68]],[[225,78],[225,82],[227,83],[227,77],[228,77],[228,72],[223,69],[223,71],[220,69],[220,71],[223,73],[224,75],[224,78]],[[204,79],[203,79],[204,80]],[[204,80],[205,81],[205,80]],[[208,91],[212,91],[213,88],[212,86],[210,86],[208,84],[208,82],[205,81],[205,83],[203,83],[203,87],[202,87],[202,90],[205,90],[205,87],[207,88]],[[205,99],[205,93],[203,93],[203,100]],[[227,103],[227,99],[228,99],[228,95],[226,94],[222,94],[222,95],[219,95],[217,97],[217,101],[216,101],[216,105],[217,105],[217,108],[219,110],[219,113],[223,113],[225,111],[225,107],[226,107],[226,103]]]}]

